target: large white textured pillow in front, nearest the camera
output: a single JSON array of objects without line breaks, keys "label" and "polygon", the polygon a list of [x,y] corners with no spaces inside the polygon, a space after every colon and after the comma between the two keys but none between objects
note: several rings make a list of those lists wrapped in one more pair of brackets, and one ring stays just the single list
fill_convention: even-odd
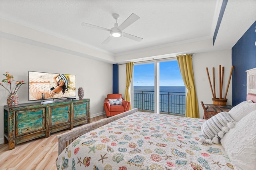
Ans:
[{"label": "large white textured pillow in front, nearest the camera", "polygon": [[256,168],[256,111],[242,118],[220,140],[234,169]]}]

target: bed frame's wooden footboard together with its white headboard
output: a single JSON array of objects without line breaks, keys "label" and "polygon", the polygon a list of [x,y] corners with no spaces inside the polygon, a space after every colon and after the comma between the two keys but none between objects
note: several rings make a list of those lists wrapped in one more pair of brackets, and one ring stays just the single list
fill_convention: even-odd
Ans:
[{"label": "bed frame's wooden footboard together with its white headboard", "polygon": [[[247,70],[247,100],[252,100],[254,103],[256,103],[256,68]],[[58,155],[76,138],[79,136],[94,130],[98,127],[101,127],[103,125],[106,125],[110,122],[116,121],[122,117],[125,117],[127,115],[130,115],[132,113],[137,112],[138,109],[132,109],[130,111],[126,111],[124,113],[121,113],[119,115],[115,115],[113,117],[101,119],[100,121],[93,122],[90,124],[86,124],[82,127],[75,128],[74,130],[70,130],[68,132],[65,132],[63,134],[60,134],[57,136],[58,138]]]}]

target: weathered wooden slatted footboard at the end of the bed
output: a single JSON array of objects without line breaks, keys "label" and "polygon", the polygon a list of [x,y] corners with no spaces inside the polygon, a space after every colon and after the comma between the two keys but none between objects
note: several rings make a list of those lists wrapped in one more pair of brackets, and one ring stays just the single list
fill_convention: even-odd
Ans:
[{"label": "weathered wooden slatted footboard at the end of the bed", "polygon": [[101,119],[100,121],[96,121],[93,123],[83,125],[78,128],[74,128],[68,132],[65,132],[63,134],[56,136],[58,138],[58,155],[60,155],[60,153],[79,136],[81,136],[87,132],[90,132],[91,130],[94,130],[96,128],[102,127],[103,125],[106,125],[108,123],[116,121],[122,117],[126,117],[132,113],[137,112],[137,111],[138,111],[138,108],[135,108],[130,111],[126,111],[124,113],[120,113],[118,115],[115,115],[115,116],[112,116],[109,118]]}]

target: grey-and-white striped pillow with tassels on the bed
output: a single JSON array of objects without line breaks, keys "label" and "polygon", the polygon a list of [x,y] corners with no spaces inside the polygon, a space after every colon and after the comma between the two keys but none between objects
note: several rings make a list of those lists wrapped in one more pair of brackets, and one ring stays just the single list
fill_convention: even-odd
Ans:
[{"label": "grey-and-white striped pillow with tassels on the bed", "polygon": [[222,130],[222,127],[227,127],[227,123],[229,122],[236,123],[236,121],[230,117],[228,112],[218,113],[203,123],[201,127],[202,136],[205,139],[212,139],[215,135],[218,135],[218,132]]}]

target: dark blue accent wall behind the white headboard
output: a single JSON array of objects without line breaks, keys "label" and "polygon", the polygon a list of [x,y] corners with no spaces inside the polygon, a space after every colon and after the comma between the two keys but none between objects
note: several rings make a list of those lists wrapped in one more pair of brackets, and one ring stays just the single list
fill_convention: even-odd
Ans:
[{"label": "dark blue accent wall behind the white headboard", "polygon": [[232,105],[235,106],[246,101],[246,70],[256,67],[256,21],[232,47],[232,65]]}]

